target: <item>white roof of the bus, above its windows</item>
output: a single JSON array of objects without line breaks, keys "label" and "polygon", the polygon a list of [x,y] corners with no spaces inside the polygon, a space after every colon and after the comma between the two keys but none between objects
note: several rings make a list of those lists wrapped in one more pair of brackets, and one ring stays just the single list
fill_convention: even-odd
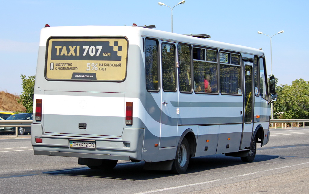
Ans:
[{"label": "white roof of the bus, above its windows", "polygon": [[[46,40],[54,36],[125,36],[132,38],[142,36],[149,38],[158,38],[171,42],[183,42],[197,46],[209,46],[213,48],[224,48],[225,50],[249,53],[264,56],[264,51],[248,46],[240,46],[225,42],[210,40],[209,38],[200,38],[199,36],[190,36],[176,34],[162,30],[144,28],[138,26],[58,26],[44,27],[41,30],[40,46],[46,46]],[[206,34],[205,34],[206,35]],[[132,40],[130,40],[132,41]],[[132,42],[130,42],[132,44]],[[134,42],[133,42],[134,43]]]}]

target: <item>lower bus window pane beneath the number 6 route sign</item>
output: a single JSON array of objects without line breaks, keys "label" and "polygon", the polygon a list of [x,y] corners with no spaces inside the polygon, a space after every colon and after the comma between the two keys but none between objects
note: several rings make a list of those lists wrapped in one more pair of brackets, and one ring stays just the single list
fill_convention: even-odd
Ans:
[{"label": "lower bus window pane beneath the number 6 route sign", "polygon": [[240,89],[240,66],[220,65],[220,89],[221,93],[239,94]]}]

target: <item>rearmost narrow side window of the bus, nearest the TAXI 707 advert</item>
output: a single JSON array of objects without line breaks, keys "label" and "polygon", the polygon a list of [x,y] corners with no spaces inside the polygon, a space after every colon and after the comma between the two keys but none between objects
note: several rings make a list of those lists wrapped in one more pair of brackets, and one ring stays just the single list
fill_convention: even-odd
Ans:
[{"label": "rearmost narrow side window of the bus, nearest the TAXI 707 advert", "polygon": [[158,85],[158,45],[155,40],[145,40],[146,89],[157,91]]}]

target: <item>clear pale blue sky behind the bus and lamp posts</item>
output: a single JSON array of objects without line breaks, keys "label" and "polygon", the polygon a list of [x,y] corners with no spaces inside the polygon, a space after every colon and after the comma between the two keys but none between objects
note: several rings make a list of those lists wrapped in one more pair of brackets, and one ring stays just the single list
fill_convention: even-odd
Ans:
[{"label": "clear pale blue sky behind the bus and lamp posts", "polygon": [[[20,75],[35,75],[40,30],[50,26],[155,25],[171,30],[171,10],[180,0],[0,0],[0,91],[20,95]],[[265,51],[279,84],[309,81],[309,1],[186,0],[173,9],[173,32],[209,34],[212,40]]]}]

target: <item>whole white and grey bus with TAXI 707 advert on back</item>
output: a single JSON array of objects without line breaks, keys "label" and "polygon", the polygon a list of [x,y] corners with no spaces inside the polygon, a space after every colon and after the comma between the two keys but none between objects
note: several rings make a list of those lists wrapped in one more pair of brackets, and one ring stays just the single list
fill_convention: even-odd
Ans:
[{"label": "whole white and grey bus with TAXI 707 advert on back", "polygon": [[76,157],[91,169],[144,161],[174,173],[191,157],[254,160],[277,97],[264,51],[153,28],[41,30],[34,154]]}]

